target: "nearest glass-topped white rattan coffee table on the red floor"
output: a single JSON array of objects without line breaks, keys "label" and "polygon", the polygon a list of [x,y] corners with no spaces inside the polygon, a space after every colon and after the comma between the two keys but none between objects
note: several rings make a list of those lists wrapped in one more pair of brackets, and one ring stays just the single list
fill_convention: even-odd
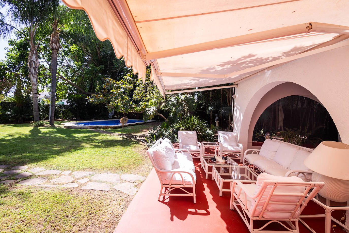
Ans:
[{"label": "nearest glass-topped white rattan coffee table on the red floor", "polygon": [[252,183],[252,181],[257,180],[257,175],[251,169],[244,165],[239,165],[232,158],[228,158],[227,164],[213,165],[212,177],[220,190],[220,196],[222,196],[223,192],[230,192],[231,185],[236,180],[243,183]]}]

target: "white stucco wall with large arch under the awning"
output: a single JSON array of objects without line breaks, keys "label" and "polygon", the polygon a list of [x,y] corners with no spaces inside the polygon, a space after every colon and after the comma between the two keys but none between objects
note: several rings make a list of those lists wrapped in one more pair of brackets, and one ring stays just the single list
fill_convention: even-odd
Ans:
[{"label": "white stucco wall with large arch under the awning", "polygon": [[[244,150],[251,147],[248,129],[255,108],[272,88],[285,82],[309,90],[331,115],[343,143],[349,144],[349,46],[292,61],[239,83],[234,131]],[[289,95],[291,90],[285,89]],[[271,104],[271,103],[270,103]]]}]

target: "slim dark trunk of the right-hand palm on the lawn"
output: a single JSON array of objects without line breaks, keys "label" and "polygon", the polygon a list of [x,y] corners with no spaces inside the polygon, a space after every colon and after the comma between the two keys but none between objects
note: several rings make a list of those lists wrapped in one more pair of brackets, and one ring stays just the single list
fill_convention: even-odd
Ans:
[{"label": "slim dark trunk of the right-hand palm on the lawn", "polygon": [[54,125],[54,109],[56,103],[56,86],[57,86],[57,54],[60,48],[59,31],[57,30],[57,21],[52,25],[52,35],[50,40],[50,49],[52,51],[51,58],[51,116],[50,125]]}]

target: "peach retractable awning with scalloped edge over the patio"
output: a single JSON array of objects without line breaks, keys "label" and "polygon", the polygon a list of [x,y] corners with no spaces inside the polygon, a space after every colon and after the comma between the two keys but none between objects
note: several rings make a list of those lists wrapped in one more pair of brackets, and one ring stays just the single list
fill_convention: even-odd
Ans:
[{"label": "peach retractable awning with scalloped edge over the patio", "polygon": [[[262,64],[349,34],[346,0],[63,1],[85,10],[98,38],[109,39],[117,57],[124,56],[139,77],[151,64],[151,80],[163,95],[167,90],[237,82],[265,69]],[[307,31],[309,22],[319,24]],[[280,36],[282,30],[290,33]],[[275,36],[259,40],[257,35],[264,32]],[[226,38],[248,35],[252,39],[246,43],[220,46]],[[217,47],[206,49],[209,42]],[[201,50],[180,49],[201,44]]]}]

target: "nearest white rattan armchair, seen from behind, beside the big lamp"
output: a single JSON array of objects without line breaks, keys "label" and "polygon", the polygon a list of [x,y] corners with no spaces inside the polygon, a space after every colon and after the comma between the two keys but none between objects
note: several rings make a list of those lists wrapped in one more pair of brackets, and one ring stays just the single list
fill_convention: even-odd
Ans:
[{"label": "nearest white rattan armchair, seen from behind, beside the big lamp", "polygon": [[[243,184],[234,181],[230,196],[230,209],[236,209],[252,233],[299,233],[300,213],[325,185],[324,182],[305,182],[296,176],[281,177],[267,173],[261,173],[254,182]],[[259,220],[267,221],[256,229],[254,222]],[[265,228],[274,222],[283,226],[281,231]]]}]

